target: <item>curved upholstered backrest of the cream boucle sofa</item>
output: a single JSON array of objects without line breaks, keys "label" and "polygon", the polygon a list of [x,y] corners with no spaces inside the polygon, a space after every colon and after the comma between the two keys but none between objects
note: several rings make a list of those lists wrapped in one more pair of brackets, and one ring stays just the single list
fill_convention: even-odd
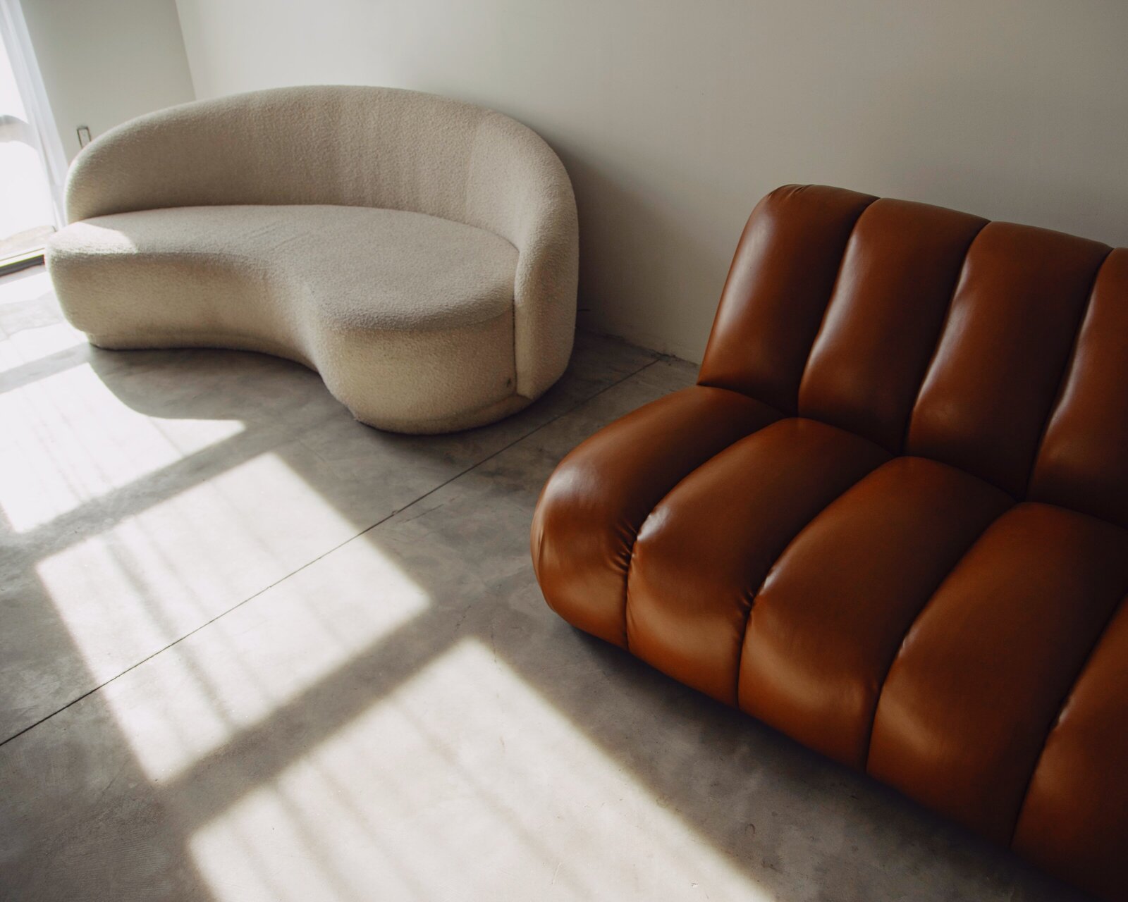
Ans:
[{"label": "curved upholstered backrest of the cream boucle sofa", "polygon": [[76,161],[67,212],[77,221],[213,204],[372,206],[477,226],[517,244],[519,198],[505,195],[528,180],[521,170],[557,166],[535,132],[472,104],[394,88],[277,88],[118,126]]}]

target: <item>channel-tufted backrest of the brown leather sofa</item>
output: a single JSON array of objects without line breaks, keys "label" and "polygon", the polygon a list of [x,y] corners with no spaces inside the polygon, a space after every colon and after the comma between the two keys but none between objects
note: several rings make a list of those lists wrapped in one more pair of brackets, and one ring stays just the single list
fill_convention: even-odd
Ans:
[{"label": "channel-tufted backrest of the brown leather sofa", "polygon": [[1128,249],[786,186],[748,221],[698,381],[1128,525]]}]

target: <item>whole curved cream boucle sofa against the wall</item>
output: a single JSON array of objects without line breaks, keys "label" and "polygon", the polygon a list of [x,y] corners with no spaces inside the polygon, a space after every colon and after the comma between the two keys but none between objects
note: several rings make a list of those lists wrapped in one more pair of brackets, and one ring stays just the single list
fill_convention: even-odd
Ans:
[{"label": "whole curved cream boucle sofa against the wall", "polygon": [[380,428],[490,423],[571,354],[572,186],[481,107],[367,87],[186,104],[83,150],[67,212],[47,265],[92,344],[290,357]]}]

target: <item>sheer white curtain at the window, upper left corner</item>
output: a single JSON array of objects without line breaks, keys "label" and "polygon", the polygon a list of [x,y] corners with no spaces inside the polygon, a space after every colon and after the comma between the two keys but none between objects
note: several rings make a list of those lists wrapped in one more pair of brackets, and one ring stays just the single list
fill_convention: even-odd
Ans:
[{"label": "sheer white curtain at the window, upper left corner", "polygon": [[63,185],[67,180],[67,154],[51,115],[51,104],[43,88],[19,0],[0,0],[0,42],[7,51],[18,94],[18,107],[0,110],[0,123],[5,123],[5,130],[10,133],[8,140],[27,143],[38,154],[51,195],[54,224],[62,227],[65,224]]}]

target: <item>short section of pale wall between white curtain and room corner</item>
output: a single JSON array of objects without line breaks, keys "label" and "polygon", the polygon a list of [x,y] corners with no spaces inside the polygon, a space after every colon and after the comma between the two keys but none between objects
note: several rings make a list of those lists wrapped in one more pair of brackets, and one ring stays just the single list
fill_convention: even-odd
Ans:
[{"label": "short section of pale wall between white curtain and room corner", "polygon": [[94,136],[194,99],[175,0],[23,0],[68,158]]}]

